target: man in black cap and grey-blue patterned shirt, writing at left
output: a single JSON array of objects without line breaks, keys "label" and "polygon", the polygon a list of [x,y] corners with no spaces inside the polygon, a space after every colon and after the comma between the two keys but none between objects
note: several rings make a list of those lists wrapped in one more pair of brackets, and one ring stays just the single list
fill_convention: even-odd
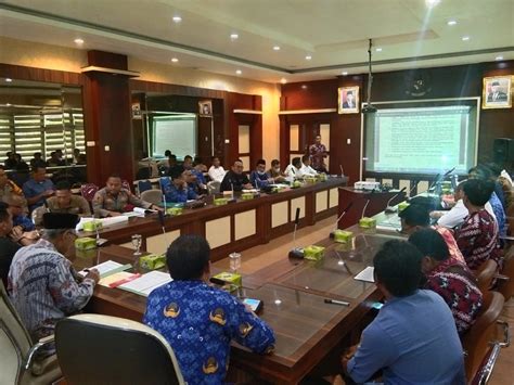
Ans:
[{"label": "man in black cap and grey-blue patterned shirt, writing at left", "polygon": [[[74,247],[78,220],[75,214],[44,214],[42,238],[22,247],[12,260],[8,290],[36,341],[53,334],[60,319],[80,311],[100,280],[95,269],[82,279],[65,257]],[[53,347],[46,350],[52,352]]]}]

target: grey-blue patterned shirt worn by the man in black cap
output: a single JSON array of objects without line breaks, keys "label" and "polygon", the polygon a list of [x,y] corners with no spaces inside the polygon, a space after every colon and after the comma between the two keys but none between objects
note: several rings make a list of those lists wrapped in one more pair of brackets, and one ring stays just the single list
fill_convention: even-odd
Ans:
[{"label": "grey-blue patterned shirt worn by the man in black cap", "polygon": [[94,281],[79,278],[72,262],[47,240],[22,247],[9,270],[9,293],[34,338],[53,334],[55,323],[81,310]]}]

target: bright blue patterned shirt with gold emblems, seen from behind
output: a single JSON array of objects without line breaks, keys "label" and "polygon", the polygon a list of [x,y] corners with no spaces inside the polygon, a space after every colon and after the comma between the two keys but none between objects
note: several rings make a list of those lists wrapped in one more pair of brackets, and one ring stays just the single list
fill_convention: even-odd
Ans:
[{"label": "bright blue patterned shirt with gold emblems, seen from behind", "polygon": [[171,281],[154,290],[143,322],[172,347],[189,384],[222,384],[230,342],[270,351],[273,331],[235,297],[203,281]]}]

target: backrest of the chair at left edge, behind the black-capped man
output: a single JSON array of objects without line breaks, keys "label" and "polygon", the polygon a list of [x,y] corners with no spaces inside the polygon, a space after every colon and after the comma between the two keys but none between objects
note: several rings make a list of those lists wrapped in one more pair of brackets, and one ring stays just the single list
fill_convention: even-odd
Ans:
[{"label": "backrest of the chair at left edge, behind the black-capped man", "polygon": [[0,281],[0,384],[17,384],[31,339]]}]

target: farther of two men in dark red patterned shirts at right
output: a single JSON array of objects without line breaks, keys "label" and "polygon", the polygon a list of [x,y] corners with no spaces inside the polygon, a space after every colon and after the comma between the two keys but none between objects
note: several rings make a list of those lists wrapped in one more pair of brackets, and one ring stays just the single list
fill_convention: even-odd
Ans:
[{"label": "farther of two men in dark red patterned shirts at right", "polygon": [[489,258],[502,266],[498,243],[498,223],[484,208],[494,187],[490,181],[470,179],[463,185],[464,205],[470,214],[455,234],[457,244],[472,270]]}]

